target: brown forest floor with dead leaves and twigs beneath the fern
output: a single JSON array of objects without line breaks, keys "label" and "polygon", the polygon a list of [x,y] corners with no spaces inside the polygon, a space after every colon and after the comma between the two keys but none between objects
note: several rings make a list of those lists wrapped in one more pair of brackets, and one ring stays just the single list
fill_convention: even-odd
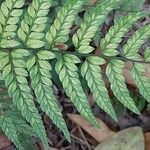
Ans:
[{"label": "brown forest floor with dead leaves and twigs beneath the fern", "polygon": [[[150,11],[149,5],[145,5],[144,7],[146,10]],[[150,23],[149,17],[141,20],[137,26],[139,27],[148,23]],[[150,45],[150,42],[147,44]],[[129,68],[126,68],[126,70],[128,69]],[[150,77],[150,72],[148,72],[147,75]],[[126,74],[126,77],[130,78],[128,77],[128,74]],[[88,95],[93,112],[100,122],[100,129],[92,127],[84,118],[77,115],[78,112],[65,96],[65,93],[55,87],[55,93],[62,106],[64,118],[71,133],[72,142],[68,143],[60,130],[53,125],[51,120],[45,114],[41,114],[48,134],[49,144],[53,147],[52,150],[94,150],[102,141],[114,136],[119,131],[129,129],[134,126],[139,126],[142,129],[146,141],[145,144],[147,144],[145,146],[146,150],[150,150],[150,147],[148,147],[148,144],[150,143],[150,104],[148,104],[138,94],[138,91],[134,84],[132,84],[132,81],[130,81],[130,79],[128,79],[128,81],[131,94],[141,109],[141,115],[134,115],[122,107],[122,105],[116,103],[115,98],[110,91],[114,108],[118,114],[118,123],[116,123],[106,113],[101,111],[97,105],[93,104],[91,95]],[[34,143],[37,145],[39,150],[44,150],[38,139],[34,139]],[[2,134],[0,134],[0,150],[15,150],[10,141]]]}]

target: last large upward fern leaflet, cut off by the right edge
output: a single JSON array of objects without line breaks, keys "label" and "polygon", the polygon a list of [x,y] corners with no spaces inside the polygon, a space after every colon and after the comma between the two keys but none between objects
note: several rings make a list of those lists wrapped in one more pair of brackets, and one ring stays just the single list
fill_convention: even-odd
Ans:
[{"label": "last large upward fern leaflet, cut off by the right edge", "polygon": [[127,41],[123,47],[123,54],[126,58],[139,60],[139,48],[150,37],[150,24],[141,27],[135,34]]}]

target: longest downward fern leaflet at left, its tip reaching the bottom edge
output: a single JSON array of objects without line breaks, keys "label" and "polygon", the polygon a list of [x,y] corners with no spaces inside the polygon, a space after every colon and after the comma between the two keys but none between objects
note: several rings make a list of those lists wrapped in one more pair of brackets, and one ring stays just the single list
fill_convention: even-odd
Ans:
[{"label": "longest downward fern leaflet at left, its tip reaching the bottom edge", "polygon": [[[23,62],[21,54],[25,56],[29,54],[28,51],[23,49],[13,50],[11,55],[6,56],[9,60],[3,68],[3,79],[8,88],[9,95],[13,98],[15,106],[21,111],[22,116],[31,124],[37,135],[41,138],[45,147],[48,149],[47,136],[31,94],[31,89],[28,85],[26,77],[28,76],[25,70],[25,62]],[[19,55],[18,55],[19,54]],[[17,63],[16,63],[17,61]]]}]

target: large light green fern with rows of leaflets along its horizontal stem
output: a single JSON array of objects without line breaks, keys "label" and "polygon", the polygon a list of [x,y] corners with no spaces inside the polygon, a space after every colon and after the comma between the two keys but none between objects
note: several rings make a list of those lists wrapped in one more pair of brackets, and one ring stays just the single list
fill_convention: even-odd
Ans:
[{"label": "large light green fern with rows of leaflets along its horizontal stem", "polygon": [[[145,76],[147,68],[144,65],[150,62],[150,48],[145,50],[144,58],[138,53],[141,45],[150,37],[150,25],[133,33],[122,48],[118,49],[118,46],[134,23],[148,15],[146,12],[129,12],[118,19],[100,40],[100,55],[95,55],[91,41],[108,14],[119,9],[119,0],[98,1],[85,14],[83,22],[72,37],[75,51],[69,51],[71,44],[67,42],[70,39],[70,28],[84,4],[83,0],[68,0],[51,25],[49,10],[52,0],[33,0],[27,9],[24,4],[25,0],[5,0],[0,9],[0,79],[12,98],[11,111],[14,112],[10,115],[11,111],[7,108],[10,105],[6,106],[6,110],[1,107],[0,127],[18,149],[24,149],[20,141],[22,128],[27,131],[33,129],[32,135],[39,136],[45,149],[49,149],[35,101],[70,141],[67,125],[53,93],[53,60],[66,95],[79,113],[94,126],[99,127],[82,88],[80,75],[87,81],[97,105],[117,121],[102,79],[101,66],[104,64],[107,65],[106,75],[118,101],[132,112],[140,114],[125,83],[123,69],[126,61],[132,63],[131,76],[140,94],[150,102],[150,80]],[[67,44],[68,47],[62,51],[57,47],[58,44]],[[5,99],[1,106],[4,102]],[[15,112],[17,116],[20,115],[17,119],[20,124],[13,120]],[[30,132],[25,133],[30,135]]]}]

